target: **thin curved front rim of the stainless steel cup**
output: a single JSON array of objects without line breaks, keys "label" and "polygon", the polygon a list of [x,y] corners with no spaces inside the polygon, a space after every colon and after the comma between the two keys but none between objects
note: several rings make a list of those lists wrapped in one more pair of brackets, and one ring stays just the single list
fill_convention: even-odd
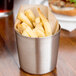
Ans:
[{"label": "thin curved front rim of the stainless steel cup", "polygon": [[[15,29],[15,28],[14,28]],[[49,37],[54,37],[56,36],[57,34],[59,34],[61,31],[61,26],[59,24],[59,31],[57,33],[55,33],[54,35],[50,35],[50,36],[47,36],[47,37],[26,37],[26,36],[23,36],[21,35],[16,29],[15,29],[15,33],[23,38],[30,38],[30,39],[46,39],[46,38],[49,38]]]}]

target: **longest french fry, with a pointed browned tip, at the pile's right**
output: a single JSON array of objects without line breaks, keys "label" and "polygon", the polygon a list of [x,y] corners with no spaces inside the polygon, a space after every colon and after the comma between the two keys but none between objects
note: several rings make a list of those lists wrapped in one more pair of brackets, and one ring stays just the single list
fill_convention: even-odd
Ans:
[{"label": "longest french fry, with a pointed browned tip, at the pile's right", "polygon": [[40,11],[40,8],[38,8],[38,13],[39,13],[39,16],[40,16],[40,18],[43,22],[43,26],[44,26],[44,29],[45,29],[46,36],[52,35],[51,26],[50,26],[48,20],[46,19],[46,17]]}]

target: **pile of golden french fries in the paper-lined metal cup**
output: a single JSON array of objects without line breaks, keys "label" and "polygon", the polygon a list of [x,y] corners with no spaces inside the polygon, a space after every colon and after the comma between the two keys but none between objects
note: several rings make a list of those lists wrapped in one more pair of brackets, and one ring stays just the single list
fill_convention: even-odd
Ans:
[{"label": "pile of golden french fries in the paper-lined metal cup", "polygon": [[46,37],[52,35],[48,19],[43,15],[40,8],[37,8],[39,17],[35,17],[31,9],[19,12],[17,15],[20,23],[16,25],[18,32],[26,37]]}]

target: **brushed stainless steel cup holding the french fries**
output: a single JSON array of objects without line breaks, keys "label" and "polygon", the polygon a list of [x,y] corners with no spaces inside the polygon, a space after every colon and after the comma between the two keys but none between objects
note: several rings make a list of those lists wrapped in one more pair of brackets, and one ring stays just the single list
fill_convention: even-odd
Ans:
[{"label": "brushed stainless steel cup holding the french fries", "polygon": [[20,67],[31,74],[44,74],[56,67],[60,30],[55,35],[29,38],[16,31]]}]

